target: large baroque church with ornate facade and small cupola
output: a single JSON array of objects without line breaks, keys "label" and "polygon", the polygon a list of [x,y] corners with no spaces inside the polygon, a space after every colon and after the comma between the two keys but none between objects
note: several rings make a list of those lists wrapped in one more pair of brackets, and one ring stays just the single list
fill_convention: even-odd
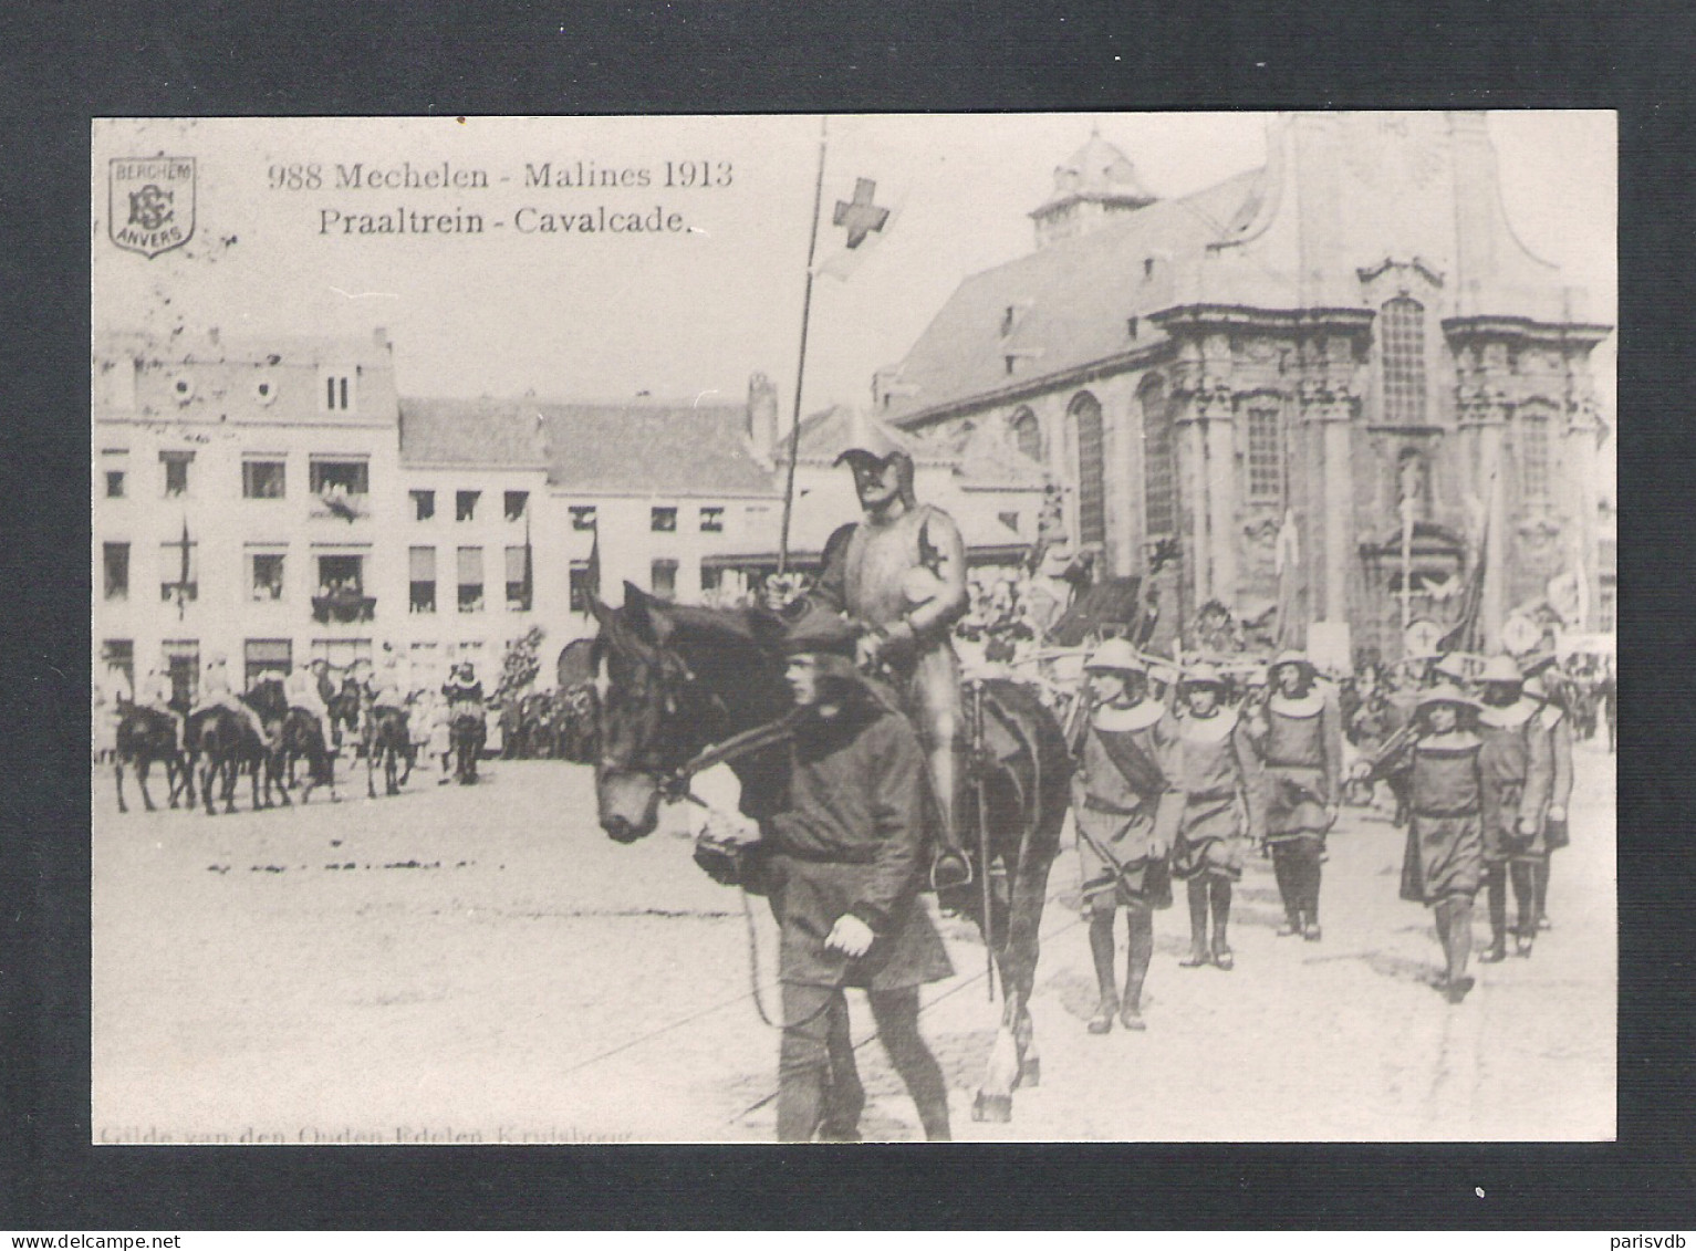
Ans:
[{"label": "large baroque church with ornate facade and small cupola", "polygon": [[1486,648],[1598,629],[1611,327],[1515,236],[1484,114],[1279,115],[1262,170],[1175,200],[1097,134],[1031,217],[873,403],[1046,466],[1106,571],[1158,570],[1167,631],[1218,602],[1396,659],[1469,581]]}]

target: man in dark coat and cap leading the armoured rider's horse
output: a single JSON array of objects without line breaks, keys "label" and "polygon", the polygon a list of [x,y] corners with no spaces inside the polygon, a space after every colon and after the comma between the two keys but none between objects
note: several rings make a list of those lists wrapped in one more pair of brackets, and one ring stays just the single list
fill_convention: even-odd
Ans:
[{"label": "man in dark coat and cap leading the armoured rider's horse", "polygon": [[953,975],[918,897],[929,851],[924,753],[855,668],[856,637],[851,622],[814,609],[785,641],[785,678],[809,714],[753,870],[782,932],[777,1136],[858,1139],[865,1090],[843,988],[860,987],[924,1136],[946,1141],[948,1087],[919,1036],[919,987]]}]

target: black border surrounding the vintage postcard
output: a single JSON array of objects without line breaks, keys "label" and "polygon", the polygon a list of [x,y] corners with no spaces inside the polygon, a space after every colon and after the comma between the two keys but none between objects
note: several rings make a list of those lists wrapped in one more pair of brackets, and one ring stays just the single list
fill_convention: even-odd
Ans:
[{"label": "black border surrounding the vintage postcard", "polygon": [[[1696,307],[1693,14],[1667,0],[8,7],[0,1227],[1688,1227],[1679,905],[1696,692],[1677,659],[1696,510],[1677,476],[1696,429],[1676,364]],[[1616,1146],[86,1146],[92,117],[1289,107],[1621,110]]]}]

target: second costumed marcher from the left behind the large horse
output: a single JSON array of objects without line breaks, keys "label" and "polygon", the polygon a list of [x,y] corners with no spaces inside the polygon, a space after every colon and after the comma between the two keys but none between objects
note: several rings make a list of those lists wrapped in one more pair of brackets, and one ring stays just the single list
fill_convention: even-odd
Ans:
[{"label": "second costumed marcher from the left behind the large horse", "polygon": [[[1197,664],[1179,678],[1177,785],[1184,817],[1172,846],[1172,876],[1189,885],[1189,956],[1180,968],[1213,963],[1230,970],[1231,883],[1243,876],[1243,815],[1258,834],[1258,797],[1250,783],[1253,749],[1233,709],[1219,703],[1225,678]],[[1213,932],[1208,932],[1208,914]]]}]

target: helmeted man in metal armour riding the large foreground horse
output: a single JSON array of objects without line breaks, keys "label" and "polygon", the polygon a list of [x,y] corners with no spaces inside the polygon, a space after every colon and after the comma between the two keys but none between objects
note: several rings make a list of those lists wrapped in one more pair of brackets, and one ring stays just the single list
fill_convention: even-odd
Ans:
[{"label": "helmeted man in metal armour riding the large foreground horse", "polygon": [[894,680],[924,744],[941,826],[931,885],[963,885],[970,861],[960,849],[957,814],[965,726],[950,631],[970,607],[965,544],[948,514],[918,502],[912,454],[882,424],[862,417],[836,463],[853,471],[865,515],[826,542],[817,598],[860,622],[860,663],[882,666]]}]

